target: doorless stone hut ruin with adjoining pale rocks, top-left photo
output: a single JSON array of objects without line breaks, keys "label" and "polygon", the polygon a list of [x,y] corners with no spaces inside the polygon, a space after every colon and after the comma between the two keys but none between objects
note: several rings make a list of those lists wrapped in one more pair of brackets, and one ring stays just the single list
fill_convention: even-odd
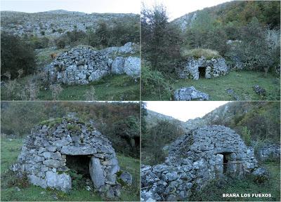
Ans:
[{"label": "doorless stone hut ruin with adjoining pale rocks, top-left photo", "polygon": [[133,54],[133,43],[121,47],[95,50],[91,46],[77,46],[58,55],[51,65],[45,67],[51,83],[87,84],[107,74],[127,74],[139,77],[141,60],[137,57],[115,55]]}]

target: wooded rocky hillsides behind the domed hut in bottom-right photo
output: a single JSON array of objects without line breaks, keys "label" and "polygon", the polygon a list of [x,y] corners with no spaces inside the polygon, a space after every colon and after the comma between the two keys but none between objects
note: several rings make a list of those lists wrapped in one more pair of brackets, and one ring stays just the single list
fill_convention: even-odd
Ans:
[{"label": "wooded rocky hillsides behind the domed hut in bottom-right photo", "polygon": [[[142,161],[148,165],[162,163],[167,155],[164,149],[178,137],[190,130],[188,124],[179,124],[177,119],[151,119],[148,123],[145,103],[141,112]],[[238,133],[245,144],[255,149],[266,144],[280,143],[280,102],[228,102],[190,124],[227,126]],[[195,126],[196,128],[196,126]]]}]

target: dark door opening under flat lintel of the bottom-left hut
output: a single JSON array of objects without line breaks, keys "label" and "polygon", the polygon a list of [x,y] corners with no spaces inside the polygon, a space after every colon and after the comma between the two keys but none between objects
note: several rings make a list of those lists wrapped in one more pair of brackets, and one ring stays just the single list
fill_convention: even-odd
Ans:
[{"label": "dark door opening under flat lintel of the bottom-left hut", "polygon": [[91,178],[89,173],[89,162],[90,157],[81,155],[81,156],[66,156],[66,166],[74,173],[83,175],[85,178]]}]

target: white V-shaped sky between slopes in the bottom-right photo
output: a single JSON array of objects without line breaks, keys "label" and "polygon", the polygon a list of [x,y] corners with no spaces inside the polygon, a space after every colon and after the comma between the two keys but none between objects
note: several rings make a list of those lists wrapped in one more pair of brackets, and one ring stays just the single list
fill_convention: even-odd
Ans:
[{"label": "white V-shaped sky between slopes in the bottom-right photo", "polygon": [[147,109],[181,121],[203,117],[228,101],[148,101]]}]

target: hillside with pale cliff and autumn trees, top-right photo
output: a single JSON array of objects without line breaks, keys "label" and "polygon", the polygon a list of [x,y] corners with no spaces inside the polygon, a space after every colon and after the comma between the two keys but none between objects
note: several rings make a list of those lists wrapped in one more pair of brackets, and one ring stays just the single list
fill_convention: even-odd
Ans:
[{"label": "hillside with pale cliff and autumn trees, top-right photo", "polygon": [[[263,25],[280,28],[280,1],[230,1],[200,11],[187,13],[171,21],[184,31],[194,25],[193,22],[207,13],[216,23],[224,25],[234,22],[241,25],[248,23],[252,17],[258,18]],[[279,16],[279,18],[278,18]]]}]

